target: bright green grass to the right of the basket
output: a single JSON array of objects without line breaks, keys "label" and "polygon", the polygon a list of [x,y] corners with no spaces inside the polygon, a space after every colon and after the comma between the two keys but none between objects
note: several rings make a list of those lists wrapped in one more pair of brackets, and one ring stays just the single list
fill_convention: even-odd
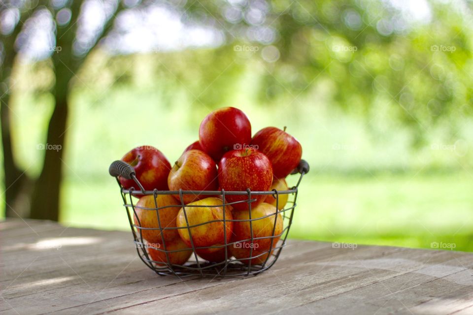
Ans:
[{"label": "bright green grass to the right of the basket", "polygon": [[469,174],[316,177],[301,187],[291,237],[472,251]]}]

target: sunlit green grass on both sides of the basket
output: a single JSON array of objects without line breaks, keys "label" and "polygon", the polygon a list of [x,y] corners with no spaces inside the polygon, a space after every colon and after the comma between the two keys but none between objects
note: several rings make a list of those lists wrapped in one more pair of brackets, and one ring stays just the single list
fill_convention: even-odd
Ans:
[{"label": "sunlit green grass on both sides of the basket", "polygon": [[[294,184],[292,178],[290,184]],[[304,177],[290,238],[473,251],[473,177],[451,174]],[[65,183],[61,221],[129,229],[113,178]]]}]

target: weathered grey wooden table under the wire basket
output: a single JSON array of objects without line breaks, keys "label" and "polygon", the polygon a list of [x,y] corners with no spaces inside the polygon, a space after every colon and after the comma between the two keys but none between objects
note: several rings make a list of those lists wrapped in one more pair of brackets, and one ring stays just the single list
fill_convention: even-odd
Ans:
[{"label": "weathered grey wooden table under the wire basket", "polygon": [[[473,254],[289,241],[265,273],[160,277],[130,232],[0,223],[0,314],[473,314]],[[242,313],[244,312],[244,313]]]}]

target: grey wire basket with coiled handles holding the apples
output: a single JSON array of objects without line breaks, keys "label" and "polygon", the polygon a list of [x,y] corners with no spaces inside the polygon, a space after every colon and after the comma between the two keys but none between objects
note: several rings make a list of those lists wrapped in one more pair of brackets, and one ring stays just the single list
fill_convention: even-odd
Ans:
[{"label": "grey wire basket with coiled handles holding the apples", "polygon": [[[307,174],[309,171],[309,165],[305,160],[301,160],[299,166],[292,172],[292,175],[300,174],[299,180],[297,185],[292,187],[288,190],[270,190],[270,191],[251,191],[247,189],[245,191],[225,191],[216,190],[216,191],[195,191],[195,190],[145,190],[141,183],[137,180],[135,176],[134,168],[129,165],[128,163],[117,160],[114,161],[109,168],[109,173],[111,176],[115,177],[118,185],[120,186],[120,193],[123,198],[124,206],[127,210],[128,220],[130,222],[130,227],[132,229],[133,238],[135,242],[136,251],[140,259],[153,271],[155,271],[160,276],[174,276],[174,277],[189,277],[189,276],[201,276],[201,277],[235,277],[235,276],[249,276],[249,275],[257,275],[267,269],[269,269],[279,257],[282,248],[286,245],[286,238],[289,233],[289,228],[291,227],[292,218],[294,215],[294,210],[296,208],[296,199],[298,193],[299,184],[302,181],[304,174]],[[123,177],[126,179],[133,179],[138,187],[138,189],[130,188],[124,189],[120,184],[119,177]],[[219,209],[223,210],[223,218],[206,221],[200,224],[189,224],[188,221],[188,212],[189,209],[192,207],[202,207],[196,205],[185,205],[183,197],[186,194],[192,195],[200,195],[201,198],[205,197],[218,197],[219,203],[213,205],[206,205],[209,208],[218,207]],[[154,207],[139,207],[134,203],[134,199],[132,196],[142,196],[142,195],[153,195],[155,204]],[[158,195],[173,195],[178,196],[176,200],[180,201],[180,204],[176,205],[166,205],[163,207],[158,207],[156,202],[156,197]],[[236,202],[226,202],[226,196],[229,195],[241,195],[246,196],[242,198],[243,200],[236,201]],[[276,205],[272,206],[274,211],[270,210],[270,214],[261,216],[258,218],[251,218],[251,207],[252,202],[254,202],[255,196],[258,195],[272,195],[275,198]],[[280,195],[288,195],[288,200],[283,209],[279,208],[279,196]],[[136,199],[135,199],[136,200]],[[207,199],[206,199],[207,200]],[[248,214],[248,218],[246,219],[228,219],[226,218],[226,209],[232,207],[232,205],[236,203],[247,203],[249,210],[245,213]],[[177,227],[177,226],[162,226],[160,220],[160,212],[166,208],[182,208],[186,226]],[[142,209],[145,211],[154,211],[156,212],[158,226],[154,227],[142,227],[141,223],[139,222],[136,210]],[[241,210],[240,210],[241,211]],[[132,216],[135,219],[135,223],[132,219]],[[161,218],[162,219],[162,218]],[[258,223],[262,223],[266,220],[266,226],[268,225],[268,220],[272,223],[272,233],[269,235],[264,235],[261,237],[255,236],[255,229],[257,228]],[[282,221],[282,224],[279,222]],[[223,231],[225,234],[225,241],[224,244],[215,245],[215,246],[206,246],[206,247],[197,247],[194,244],[192,231],[194,228],[205,225],[205,224],[212,224],[215,222],[223,222]],[[220,224],[221,224],[220,223]],[[250,237],[247,239],[230,239],[228,241],[227,237],[227,229],[228,225],[236,226],[243,226],[248,228],[250,231]],[[276,228],[276,225],[282,225],[282,228]],[[210,225],[209,225],[210,226]],[[190,239],[190,246],[186,248],[171,248],[172,246],[168,242],[168,246],[166,244],[165,237],[162,237],[162,244],[161,243],[149,243],[143,238],[143,232],[146,233],[150,230],[157,230],[160,235],[165,235],[166,231],[171,230],[179,230],[179,229],[187,229],[187,233]],[[258,244],[264,244],[262,248],[257,248]],[[268,246],[269,244],[269,246]],[[232,247],[232,248],[231,248]],[[240,249],[244,253],[243,256],[240,258],[232,257],[232,250],[233,249]],[[177,254],[190,254],[190,258],[184,264],[175,264],[172,262],[172,256]],[[203,258],[199,257],[198,252],[216,252],[220,253],[221,261],[210,262],[206,261]],[[159,260],[153,260],[151,258],[150,252],[154,252],[155,255],[160,257]]]}]

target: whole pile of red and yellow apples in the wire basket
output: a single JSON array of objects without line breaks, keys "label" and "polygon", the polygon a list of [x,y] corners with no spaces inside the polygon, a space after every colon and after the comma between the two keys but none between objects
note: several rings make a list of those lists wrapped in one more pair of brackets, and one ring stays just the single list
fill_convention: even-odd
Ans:
[{"label": "whole pile of red and yellow apples in the wire basket", "polygon": [[[252,196],[256,200],[251,203],[251,224],[253,237],[258,239],[251,242],[248,195],[226,195],[226,203],[232,205],[226,205],[224,211],[221,195],[199,191],[287,190],[285,177],[298,166],[301,156],[301,144],[285,130],[266,127],[251,137],[250,121],[234,107],[208,114],[200,125],[199,140],[187,147],[172,166],[154,147],[142,146],[128,152],[122,160],[135,169],[144,189],[196,191],[182,194],[183,203],[194,206],[186,206],[185,213],[178,194],[158,194],[156,198],[136,195],[135,225],[141,227],[143,239],[150,244],[147,248],[151,259],[159,265],[166,264],[169,257],[171,264],[182,265],[194,247],[201,258],[221,262],[226,259],[225,244],[229,244],[228,259],[235,256],[248,263],[251,257],[251,264],[264,263],[283,231],[282,217],[276,215],[276,197]],[[133,180],[120,177],[120,183],[125,189],[137,189]],[[279,210],[287,197],[278,195]],[[158,210],[159,222],[157,207],[166,207]],[[198,226],[188,228],[192,225]]]}]

